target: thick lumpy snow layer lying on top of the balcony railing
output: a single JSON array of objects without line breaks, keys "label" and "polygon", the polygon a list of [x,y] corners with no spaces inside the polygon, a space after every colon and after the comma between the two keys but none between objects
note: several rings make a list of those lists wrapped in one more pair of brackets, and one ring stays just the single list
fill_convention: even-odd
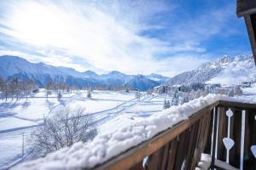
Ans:
[{"label": "thick lumpy snow layer lying on top of the balcony railing", "polygon": [[57,150],[44,158],[24,162],[13,169],[80,169],[95,167],[113,156],[130,149],[143,141],[152,139],[156,134],[172,127],[207,105],[223,99],[252,103],[251,99],[228,98],[226,96],[209,94],[189,101],[189,103],[172,106],[159,114],[149,116],[143,120],[134,120],[116,131],[99,134],[86,144],[73,144],[70,148]]}]

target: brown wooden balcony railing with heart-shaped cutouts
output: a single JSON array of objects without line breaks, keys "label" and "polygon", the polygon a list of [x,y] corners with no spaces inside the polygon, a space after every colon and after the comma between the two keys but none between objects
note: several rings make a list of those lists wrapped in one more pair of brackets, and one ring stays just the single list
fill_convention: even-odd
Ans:
[{"label": "brown wooden balcony railing with heart-shaped cutouts", "polygon": [[[211,168],[216,157],[233,167],[256,169],[251,150],[256,145],[255,116],[256,105],[219,100],[93,169],[195,169],[201,153],[212,155]],[[234,142],[230,151],[224,146],[224,138],[231,145]]]}]

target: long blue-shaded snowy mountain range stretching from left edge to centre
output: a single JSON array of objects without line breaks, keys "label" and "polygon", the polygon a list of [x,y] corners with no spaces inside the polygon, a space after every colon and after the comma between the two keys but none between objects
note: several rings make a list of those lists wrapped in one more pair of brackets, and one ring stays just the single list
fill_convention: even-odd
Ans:
[{"label": "long blue-shaded snowy mountain range stretching from left edge to centre", "polygon": [[126,75],[119,71],[111,71],[108,74],[97,74],[94,71],[79,72],[73,68],[56,67],[44,63],[31,63],[17,56],[4,55],[0,57],[0,77],[8,80],[11,77],[20,80],[32,80],[38,85],[44,86],[49,81],[67,82],[78,87],[95,85],[129,85],[133,88],[145,90],[154,88],[168,77],[151,74],[148,76]]}]

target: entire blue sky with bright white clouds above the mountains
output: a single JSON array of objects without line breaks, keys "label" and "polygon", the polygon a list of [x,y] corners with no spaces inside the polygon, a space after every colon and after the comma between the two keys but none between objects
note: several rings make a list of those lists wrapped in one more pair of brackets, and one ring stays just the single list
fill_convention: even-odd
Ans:
[{"label": "entire blue sky with bright white clouds above the mountains", "polygon": [[251,54],[229,0],[0,1],[0,54],[77,71],[169,77]]}]

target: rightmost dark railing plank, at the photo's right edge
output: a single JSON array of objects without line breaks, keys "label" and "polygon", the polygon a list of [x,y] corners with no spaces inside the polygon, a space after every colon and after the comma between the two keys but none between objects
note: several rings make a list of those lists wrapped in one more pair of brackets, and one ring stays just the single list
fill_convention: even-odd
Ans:
[{"label": "rightmost dark railing plank, at the photo's right edge", "polygon": [[256,145],[256,112],[246,111],[245,140],[244,140],[244,169],[256,169],[251,146]]}]

